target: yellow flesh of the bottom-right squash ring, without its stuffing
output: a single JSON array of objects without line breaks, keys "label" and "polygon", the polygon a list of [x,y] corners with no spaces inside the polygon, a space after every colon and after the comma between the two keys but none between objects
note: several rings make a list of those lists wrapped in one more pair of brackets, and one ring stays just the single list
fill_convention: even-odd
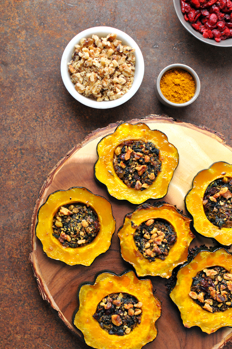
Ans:
[{"label": "yellow flesh of the bottom-right squash ring, without its stuffing", "polygon": [[[197,252],[201,250],[198,249]],[[212,251],[212,252],[211,252]],[[195,256],[195,257],[194,257]],[[232,269],[232,256],[224,248],[217,246],[194,254],[193,257],[177,273],[175,287],[170,297],[180,310],[181,318],[185,327],[199,326],[208,334],[217,331],[220,327],[232,326],[232,308],[224,312],[209,312],[197,304],[189,296],[193,277],[204,268],[220,266],[226,270]]]}]

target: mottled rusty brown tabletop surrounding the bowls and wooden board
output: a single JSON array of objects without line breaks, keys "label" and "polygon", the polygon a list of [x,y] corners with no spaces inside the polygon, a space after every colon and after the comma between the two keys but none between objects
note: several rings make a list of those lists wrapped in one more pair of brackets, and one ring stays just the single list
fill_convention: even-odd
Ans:
[{"label": "mottled rusty brown tabletop surrounding the bowls and wooden board", "polygon": [[[43,301],[28,261],[30,220],[43,181],[93,129],[151,113],[218,130],[232,145],[232,48],[211,47],[188,34],[171,1],[6,0],[1,1],[0,16],[0,348],[87,348]],[[75,101],[59,71],[69,40],[96,25],[125,31],[144,55],[140,89],[111,110]],[[162,106],[154,94],[154,79],[175,62],[195,69],[202,86],[197,101],[181,111]]]}]

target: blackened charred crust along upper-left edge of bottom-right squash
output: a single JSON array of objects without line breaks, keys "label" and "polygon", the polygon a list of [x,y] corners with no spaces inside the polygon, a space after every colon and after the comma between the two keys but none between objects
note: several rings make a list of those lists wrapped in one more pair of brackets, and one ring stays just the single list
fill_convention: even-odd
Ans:
[{"label": "blackened charred crust along upper-left edge of bottom-right squash", "polygon": [[[196,255],[198,253],[200,253],[202,251],[215,252],[217,250],[220,250],[220,248],[224,248],[224,250],[226,250],[226,252],[228,252],[229,254],[232,255],[232,252],[229,252],[227,250],[228,246],[227,246],[227,248],[225,248],[224,246],[210,246],[210,247],[207,247],[206,245],[201,245],[201,246],[195,246],[195,247],[190,248],[189,249],[189,253],[188,253],[187,261],[184,264],[178,265],[177,267],[175,267],[173,269],[172,276],[170,277],[169,282],[167,282],[165,284],[166,289],[167,289],[167,293],[170,295],[172,290],[174,289],[174,287],[176,285],[176,282],[177,282],[177,274],[178,274],[179,270],[181,268],[185,267],[186,265],[188,265],[191,261],[193,261],[193,259],[196,257]],[[217,265],[217,263],[215,265]]]}]

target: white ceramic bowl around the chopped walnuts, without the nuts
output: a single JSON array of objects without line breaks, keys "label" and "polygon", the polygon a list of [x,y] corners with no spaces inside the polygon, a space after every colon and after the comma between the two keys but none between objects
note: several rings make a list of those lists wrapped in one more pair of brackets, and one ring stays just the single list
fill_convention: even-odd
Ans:
[{"label": "white ceramic bowl around the chopped walnuts, without the nuts", "polygon": [[[127,93],[125,93],[125,95],[123,95],[121,98],[118,98],[115,101],[97,102],[92,98],[82,96],[75,90],[74,83],[70,79],[70,74],[68,72],[67,64],[72,60],[72,54],[75,49],[74,46],[79,44],[82,38],[89,38],[89,37],[92,38],[93,34],[102,38],[102,37],[106,37],[108,34],[111,34],[111,33],[116,33],[117,39],[121,40],[123,45],[131,46],[135,49],[134,54],[135,54],[136,61],[135,61],[134,81],[132,83],[130,90]],[[140,51],[136,42],[123,31],[116,28],[111,28],[111,27],[94,27],[94,28],[89,28],[84,31],[81,31],[67,44],[61,58],[60,70],[61,70],[61,77],[63,79],[66,89],[75,99],[77,99],[77,101],[92,108],[108,109],[108,108],[113,108],[125,103],[138,90],[143,80],[144,60],[143,60],[142,52]]]}]

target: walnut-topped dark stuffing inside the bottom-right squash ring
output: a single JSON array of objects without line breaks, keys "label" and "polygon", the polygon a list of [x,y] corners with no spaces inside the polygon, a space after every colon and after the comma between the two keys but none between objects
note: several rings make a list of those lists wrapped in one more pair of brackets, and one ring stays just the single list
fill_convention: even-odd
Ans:
[{"label": "walnut-topped dark stuffing inside the bottom-right squash ring", "polygon": [[193,277],[189,296],[211,313],[231,308],[232,274],[219,266],[201,270]]}]

